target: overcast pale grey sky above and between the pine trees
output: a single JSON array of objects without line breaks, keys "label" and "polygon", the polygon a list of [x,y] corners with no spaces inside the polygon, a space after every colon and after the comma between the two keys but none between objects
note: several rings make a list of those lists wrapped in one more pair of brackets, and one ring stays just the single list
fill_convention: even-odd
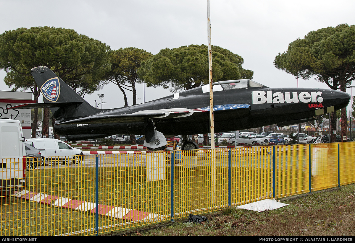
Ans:
[{"label": "overcast pale grey sky above and between the pine trees", "polygon": [[[210,0],[210,7],[212,45],[243,57],[243,67],[254,71],[253,80],[258,83],[297,87],[292,75],[274,67],[275,56],[312,30],[353,25],[355,1]],[[0,33],[34,26],[74,29],[106,43],[111,50],[133,46],[156,54],[166,47],[207,45],[207,0],[0,0]],[[0,80],[4,77],[1,70]],[[327,86],[300,79],[299,87]],[[11,89],[0,81],[0,90]],[[105,94],[104,108],[124,105],[121,91],[113,84],[85,99],[94,105],[100,93]],[[145,100],[169,94],[162,88],[146,88]],[[131,94],[127,96],[132,104]],[[141,98],[139,103],[143,101],[143,84],[138,84],[137,98]]]}]

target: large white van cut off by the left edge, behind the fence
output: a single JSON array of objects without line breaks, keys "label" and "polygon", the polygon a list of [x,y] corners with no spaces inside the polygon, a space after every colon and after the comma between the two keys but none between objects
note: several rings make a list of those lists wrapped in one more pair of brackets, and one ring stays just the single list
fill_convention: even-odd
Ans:
[{"label": "large white van cut off by the left edge, behind the fence", "polygon": [[26,186],[26,150],[19,120],[0,119],[1,196]]}]

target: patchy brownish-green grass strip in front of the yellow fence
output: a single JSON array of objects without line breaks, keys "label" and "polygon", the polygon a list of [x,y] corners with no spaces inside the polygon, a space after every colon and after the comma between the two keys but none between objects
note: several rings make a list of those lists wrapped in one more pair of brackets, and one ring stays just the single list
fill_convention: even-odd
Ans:
[{"label": "patchy brownish-green grass strip in front of the yellow fence", "polygon": [[[283,200],[283,208],[254,212],[226,208],[207,216],[204,224],[175,224],[136,229],[127,236],[354,236],[355,185]],[[114,232],[112,235],[121,234]]]}]

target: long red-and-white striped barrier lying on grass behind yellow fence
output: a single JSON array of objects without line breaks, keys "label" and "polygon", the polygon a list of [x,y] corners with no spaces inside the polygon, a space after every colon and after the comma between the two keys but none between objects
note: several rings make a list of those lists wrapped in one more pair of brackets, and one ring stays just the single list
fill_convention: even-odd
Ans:
[{"label": "long red-and-white striped barrier lying on grass behind yellow fence", "polygon": [[[54,207],[67,208],[72,210],[79,210],[91,213],[95,213],[96,204],[91,202],[84,202],[80,200],[75,200],[71,198],[51,196],[48,194],[31,192],[31,191],[19,191],[13,194],[14,197],[26,199],[33,202],[38,202],[42,204],[52,205]],[[155,213],[148,213],[140,210],[133,210],[129,208],[121,208],[109,205],[98,204],[98,214],[105,215],[109,217],[115,217],[118,219],[125,219],[130,221],[159,221],[163,220],[164,216]]]}]

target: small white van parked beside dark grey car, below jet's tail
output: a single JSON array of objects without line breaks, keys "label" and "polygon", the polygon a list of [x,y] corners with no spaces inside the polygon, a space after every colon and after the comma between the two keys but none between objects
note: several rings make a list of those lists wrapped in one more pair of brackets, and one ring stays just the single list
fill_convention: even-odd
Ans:
[{"label": "small white van parked beside dark grey car, below jet's tail", "polygon": [[65,160],[77,164],[83,159],[83,152],[80,149],[73,148],[58,139],[27,139],[25,143],[39,149],[47,162]]}]

